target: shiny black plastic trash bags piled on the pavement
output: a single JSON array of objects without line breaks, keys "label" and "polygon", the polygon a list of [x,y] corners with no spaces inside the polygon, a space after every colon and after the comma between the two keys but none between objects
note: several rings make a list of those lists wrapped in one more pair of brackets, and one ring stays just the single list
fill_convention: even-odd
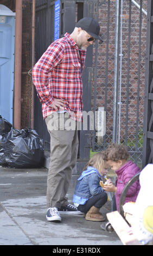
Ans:
[{"label": "shiny black plastic trash bags piled on the pavement", "polygon": [[0,165],[35,168],[44,161],[43,140],[32,129],[15,130],[0,115]]}]

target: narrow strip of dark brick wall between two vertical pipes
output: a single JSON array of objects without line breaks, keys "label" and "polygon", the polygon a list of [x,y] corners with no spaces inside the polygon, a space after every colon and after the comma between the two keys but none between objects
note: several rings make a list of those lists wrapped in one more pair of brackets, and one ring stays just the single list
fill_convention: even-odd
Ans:
[{"label": "narrow strip of dark brick wall between two vertical pipes", "polygon": [[31,118],[31,22],[32,4],[29,0],[23,0],[22,19],[22,103],[21,103],[21,127],[30,128]]}]

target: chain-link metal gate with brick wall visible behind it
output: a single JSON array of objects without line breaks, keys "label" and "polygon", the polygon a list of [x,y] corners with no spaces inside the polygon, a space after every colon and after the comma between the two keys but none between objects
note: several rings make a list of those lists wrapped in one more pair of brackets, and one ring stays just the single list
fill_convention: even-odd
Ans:
[{"label": "chain-link metal gate with brick wall visible behind it", "polygon": [[94,112],[105,113],[101,133],[93,131],[92,150],[103,150],[112,142],[123,143],[140,166],[147,6],[144,0],[98,1],[104,43],[95,45],[92,101]]}]

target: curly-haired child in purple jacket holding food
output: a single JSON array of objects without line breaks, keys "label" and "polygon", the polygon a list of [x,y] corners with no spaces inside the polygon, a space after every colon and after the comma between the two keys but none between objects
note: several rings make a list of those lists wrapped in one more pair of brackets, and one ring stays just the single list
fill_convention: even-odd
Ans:
[{"label": "curly-haired child in purple jacket holding food", "polygon": [[[129,153],[122,144],[112,144],[105,151],[107,164],[117,174],[116,186],[110,182],[104,186],[107,192],[115,192],[116,202],[113,202],[113,211],[119,208],[119,199],[125,184],[141,170],[131,160],[128,161]],[[140,190],[139,180],[137,180],[130,188],[125,197],[125,203],[136,202]],[[117,209],[116,209],[117,208]]]}]

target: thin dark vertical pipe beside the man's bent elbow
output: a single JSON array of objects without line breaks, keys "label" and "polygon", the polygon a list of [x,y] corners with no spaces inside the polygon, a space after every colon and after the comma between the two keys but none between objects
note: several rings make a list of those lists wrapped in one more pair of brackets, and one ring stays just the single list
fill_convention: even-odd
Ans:
[{"label": "thin dark vertical pipe beside the man's bent elbow", "polygon": [[[33,21],[32,21],[32,67],[35,65],[35,0],[33,0]],[[34,84],[31,78],[31,129],[34,129]]]}]

